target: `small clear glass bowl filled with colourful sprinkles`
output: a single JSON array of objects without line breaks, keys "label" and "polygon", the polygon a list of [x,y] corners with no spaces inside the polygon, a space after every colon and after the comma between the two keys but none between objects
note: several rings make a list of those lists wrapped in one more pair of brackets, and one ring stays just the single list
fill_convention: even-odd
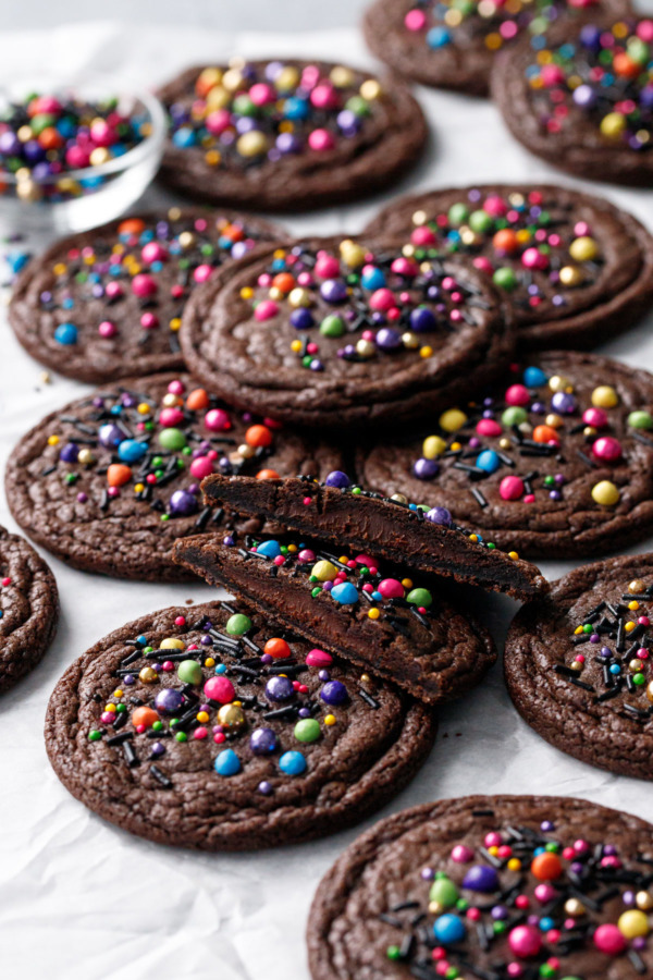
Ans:
[{"label": "small clear glass bowl filled with colourful sprinkles", "polygon": [[165,122],[147,91],[101,78],[0,86],[0,224],[65,234],[137,200],[161,159]]}]

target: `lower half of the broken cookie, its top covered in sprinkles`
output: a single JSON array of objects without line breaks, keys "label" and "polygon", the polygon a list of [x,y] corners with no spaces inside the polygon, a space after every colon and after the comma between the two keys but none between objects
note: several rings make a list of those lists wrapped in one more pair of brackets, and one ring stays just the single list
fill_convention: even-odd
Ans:
[{"label": "lower half of the broken cookie, its top covered in sprinkles", "polygon": [[441,581],[378,561],[343,536],[337,553],[292,536],[178,541],[175,559],[331,653],[429,705],[475,687],[496,659],[490,634]]}]

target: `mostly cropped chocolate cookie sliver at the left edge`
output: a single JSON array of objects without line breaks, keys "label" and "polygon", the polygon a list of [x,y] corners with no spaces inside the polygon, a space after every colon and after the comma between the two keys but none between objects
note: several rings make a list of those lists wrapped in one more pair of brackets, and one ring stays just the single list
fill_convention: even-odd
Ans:
[{"label": "mostly cropped chocolate cookie sliver at the left edge", "polygon": [[24,538],[0,527],[0,691],[40,661],[58,618],[54,576]]}]

